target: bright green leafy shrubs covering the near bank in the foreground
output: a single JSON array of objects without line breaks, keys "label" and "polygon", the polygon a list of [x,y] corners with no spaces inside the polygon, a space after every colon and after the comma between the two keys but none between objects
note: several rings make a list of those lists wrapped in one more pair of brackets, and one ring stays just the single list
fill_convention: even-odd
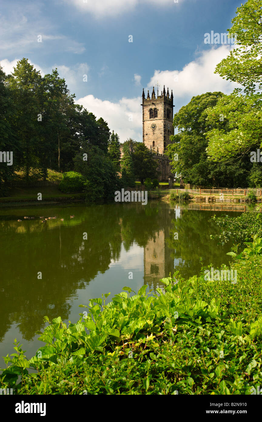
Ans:
[{"label": "bright green leafy shrubs covering the near bank in the foreground", "polygon": [[262,385],[262,258],[234,269],[235,285],[175,274],[156,293],[92,299],[76,324],[58,317],[38,332],[45,345],[32,359],[16,344],[0,384],[16,394],[249,395]]}]

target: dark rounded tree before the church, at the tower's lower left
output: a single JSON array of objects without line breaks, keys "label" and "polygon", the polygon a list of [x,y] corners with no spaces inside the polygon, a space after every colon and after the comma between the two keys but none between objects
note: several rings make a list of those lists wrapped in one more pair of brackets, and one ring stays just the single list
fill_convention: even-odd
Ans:
[{"label": "dark rounded tree before the church, at the tower's lower left", "polygon": [[144,179],[150,177],[154,179],[157,176],[158,162],[154,160],[150,150],[144,145],[143,142],[137,143],[135,151],[131,154],[134,163],[134,174],[141,184]]}]

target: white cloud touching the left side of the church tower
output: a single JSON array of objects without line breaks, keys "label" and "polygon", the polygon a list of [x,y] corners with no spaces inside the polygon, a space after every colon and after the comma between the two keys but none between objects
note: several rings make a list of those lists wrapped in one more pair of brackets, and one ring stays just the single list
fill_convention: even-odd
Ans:
[{"label": "white cloud touching the left side of the church tower", "polygon": [[110,130],[118,133],[120,142],[127,138],[142,141],[142,107],[141,98],[123,97],[117,103],[100,100],[94,95],[79,98],[77,104],[82,104],[88,111],[107,121]]}]

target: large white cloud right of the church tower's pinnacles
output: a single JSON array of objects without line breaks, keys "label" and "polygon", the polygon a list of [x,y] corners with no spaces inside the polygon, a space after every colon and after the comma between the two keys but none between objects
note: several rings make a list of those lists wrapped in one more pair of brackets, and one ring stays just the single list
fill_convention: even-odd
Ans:
[{"label": "large white cloud right of the church tower's pinnacles", "polygon": [[185,65],[181,71],[155,70],[147,89],[152,88],[153,85],[156,86],[157,81],[160,83],[160,91],[164,85],[166,89],[169,87],[169,93],[173,89],[174,103],[177,106],[178,100],[179,108],[187,104],[186,99],[190,100],[193,96],[201,95],[204,92],[222,91],[228,94],[239,85],[222,79],[214,73],[214,70],[217,63],[227,57],[229,50],[230,46],[222,45],[202,51],[196,60]]}]

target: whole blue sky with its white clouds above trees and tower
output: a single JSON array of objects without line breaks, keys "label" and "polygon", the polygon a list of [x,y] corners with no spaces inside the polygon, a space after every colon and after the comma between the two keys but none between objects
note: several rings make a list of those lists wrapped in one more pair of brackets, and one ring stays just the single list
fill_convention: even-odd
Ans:
[{"label": "whole blue sky with its white clouds above trees and tower", "polygon": [[57,67],[76,101],[107,120],[121,142],[141,141],[143,87],[150,94],[157,81],[160,89],[172,88],[175,111],[193,95],[236,87],[214,75],[232,46],[205,44],[204,34],[227,32],[239,6],[238,0],[5,2],[0,62],[6,73],[22,57],[43,73]]}]

